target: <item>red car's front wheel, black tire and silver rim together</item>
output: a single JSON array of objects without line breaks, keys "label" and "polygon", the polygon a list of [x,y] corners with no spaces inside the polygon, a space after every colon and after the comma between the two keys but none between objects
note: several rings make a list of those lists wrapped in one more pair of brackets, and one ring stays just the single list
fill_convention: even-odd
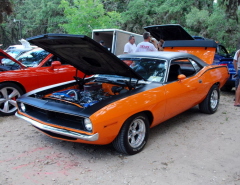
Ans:
[{"label": "red car's front wheel, black tire and silver rim together", "polygon": [[17,111],[16,99],[23,94],[23,90],[16,84],[6,82],[0,84],[0,114],[10,116]]}]

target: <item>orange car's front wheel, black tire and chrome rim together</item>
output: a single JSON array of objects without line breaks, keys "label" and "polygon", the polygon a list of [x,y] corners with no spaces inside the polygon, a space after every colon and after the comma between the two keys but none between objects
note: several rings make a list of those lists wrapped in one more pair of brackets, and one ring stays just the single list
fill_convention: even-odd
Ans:
[{"label": "orange car's front wheel, black tire and chrome rim together", "polygon": [[144,113],[138,113],[128,118],[118,136],[113,141],[113,147],[122,153],[134,155],[143,150],[149,135],[149,120]]}]

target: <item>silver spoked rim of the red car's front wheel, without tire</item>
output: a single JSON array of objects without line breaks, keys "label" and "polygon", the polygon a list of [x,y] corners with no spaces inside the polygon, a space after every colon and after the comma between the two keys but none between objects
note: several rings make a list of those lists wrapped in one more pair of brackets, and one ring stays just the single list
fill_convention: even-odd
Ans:
[{"label": "silver spoked rim of the red car's front wheel, without tire", "polygon": [[14,87],[4,87],[0,89],[0,111],[3,113],[16,111],[16,99],[20,96],[21,94]]}]

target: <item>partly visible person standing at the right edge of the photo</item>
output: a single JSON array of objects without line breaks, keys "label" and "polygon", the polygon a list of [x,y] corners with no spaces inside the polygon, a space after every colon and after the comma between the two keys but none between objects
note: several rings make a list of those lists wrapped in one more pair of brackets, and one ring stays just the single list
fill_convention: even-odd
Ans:
[{"label": "partly visible person standing at the right edge of the photo", "polygon": [[[237,50],[237,52],[234,55],[233,66],[234,66],[234,69],[236,70],[236,73],[237,73],[236,79],[239,79],[240,78],[240,50]],[[239,84],[239,80],[237,82],[238,82],[238,84],[236,84],[234,106],[240,107],[240,84]]]}]

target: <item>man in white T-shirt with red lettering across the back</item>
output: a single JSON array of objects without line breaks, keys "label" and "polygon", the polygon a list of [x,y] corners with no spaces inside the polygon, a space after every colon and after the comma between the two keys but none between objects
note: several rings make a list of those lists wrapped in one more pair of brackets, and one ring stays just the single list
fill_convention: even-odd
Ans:
[{"label": "man in white T-shirt with red lettering across the back", "polygon": [[156,48],[152,43],[150,43],[150,41],[151,41],[151,36],[150,36],[150,33],[149,33],[149,32],[145,32],[145,33],[143,34],[143,39],[144,39],[144,41],[143,41],[143,42],[140,42],[140,43],[137,45],[136,52],[142,52],[142,51],[158,51],[157,48]]}]

